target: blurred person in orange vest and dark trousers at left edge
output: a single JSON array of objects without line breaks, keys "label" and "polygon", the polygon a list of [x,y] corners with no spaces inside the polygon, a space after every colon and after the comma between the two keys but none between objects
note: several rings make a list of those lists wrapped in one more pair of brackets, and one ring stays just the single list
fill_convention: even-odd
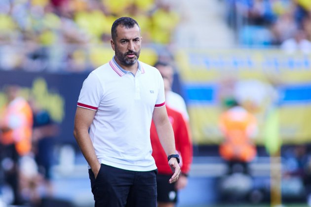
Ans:
[{"label": "blurred person in orange vest and dark trousers at left edge", "polygon": [[19,161],[31,152],[33,115],[28,102],[19,96],[18,86],[7,86],[5,92],[7,104],[0,110],[0,160],[5,181],[14,191],[13,204],[19,205],[23,203]]}]

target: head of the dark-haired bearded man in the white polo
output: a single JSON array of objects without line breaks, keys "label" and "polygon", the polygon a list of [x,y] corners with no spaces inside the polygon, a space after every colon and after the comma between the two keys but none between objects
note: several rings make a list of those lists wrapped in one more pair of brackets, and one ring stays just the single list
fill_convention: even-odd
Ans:
[{"label": "head of the dark-haired bearded man in the white polo", "polygon": [[139,58],[142,40],[138,23],[130,17],[117,19],[111,28],[111,37],[118,64],[134,65]]}]

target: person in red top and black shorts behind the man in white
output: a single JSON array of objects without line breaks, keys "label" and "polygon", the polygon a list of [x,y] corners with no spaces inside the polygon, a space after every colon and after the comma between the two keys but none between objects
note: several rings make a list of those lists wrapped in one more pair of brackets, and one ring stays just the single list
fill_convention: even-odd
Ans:
[{"label": "person in red top and black shorts behind the man in white", "polygon": [[[170,92],[170,81],[163,78],[165,94]],[[158,207],[174,207],[177,203],[178,190],[186,187],[188,184],[188,174],[192,163],[192,141],[190,138],[189,128],[183,115],[171,109],[166,105],[167,115],[174,131],[176,150],[180,156],[181,174],[174,184],[167,182],[172,176],[171,170],[167,165],[167,157],[161,143],[157,137],[156,126],[154,122],[151,124],[150,138],[153,148],[152,155],[156,161],[158,174],[156,175],[157,186],[157,206]]]}]

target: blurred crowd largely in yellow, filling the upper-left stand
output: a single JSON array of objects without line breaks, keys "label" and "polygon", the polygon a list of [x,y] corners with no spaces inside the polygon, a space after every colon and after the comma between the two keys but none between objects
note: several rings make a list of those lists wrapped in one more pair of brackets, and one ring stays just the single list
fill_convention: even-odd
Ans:
[{"label": "blurred crowd largely in yellow, filling the upper-left stand", "polygon": [[146,44],[169,44],[180,21],[162,0],[3,0],[0,8],[0,42],[9,44],[1,46],[2,69],[90,70],[112,54],[102,45],[117,17],[137,19]]}]

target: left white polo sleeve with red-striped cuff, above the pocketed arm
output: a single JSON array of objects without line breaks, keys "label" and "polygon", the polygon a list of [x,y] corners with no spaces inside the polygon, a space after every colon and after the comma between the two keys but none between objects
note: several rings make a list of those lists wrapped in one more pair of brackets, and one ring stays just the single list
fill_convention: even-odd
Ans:
[{"label": "left white polo sleeve with red-striped cuff, above the pocketed arm", "polygon": [[79,107],[97,110],[102,94],[102,84],[97,75],[91,72],[83,82],[77,105]]}]

